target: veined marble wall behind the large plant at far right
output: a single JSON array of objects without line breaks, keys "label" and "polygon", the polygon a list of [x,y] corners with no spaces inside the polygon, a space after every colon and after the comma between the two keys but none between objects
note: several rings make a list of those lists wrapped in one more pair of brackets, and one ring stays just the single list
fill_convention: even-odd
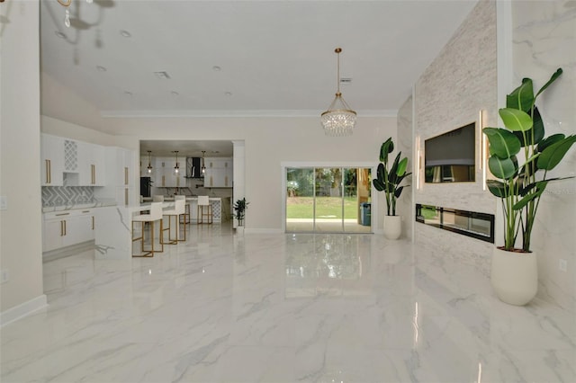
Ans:
[{"label": "veined marble wall behind the large plant at far right", "polygon": [[[538,97],[546,136],[576,134],[576,7],[568,0],[512,2],[513,85],[523,77],[537,91],[558,67],[563,75]],[[576,175],[576,147],[550,176]],[[576,180],[550,183],[532,236],[538,259],[538,297],[576,312]],[[559,270],[559,260],[568,271]]]}]

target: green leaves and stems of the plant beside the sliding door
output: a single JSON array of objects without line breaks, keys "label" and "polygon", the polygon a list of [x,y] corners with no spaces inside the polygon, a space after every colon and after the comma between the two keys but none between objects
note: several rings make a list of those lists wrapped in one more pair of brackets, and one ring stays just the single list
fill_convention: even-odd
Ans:
[{"label": "green leaves and stems of the plant beside the sliding door", "polygon": [[[392,166],[389,165],[388,155],[394,151],[394,143],[392,137],[383,142],[380,147],[380,164],[376,170],[376,178],[374,178],[374,188],[377,191],[384,191],[386,193],[386,215],[396,215],[396,200],[400,198],[404,186],[400,186],[404,178],[408,177],[411,173],[406,173],[408,166],[408,157],[401,159],[402,152],[398,152]],[[391,214],[392,211],[392,214]]]}]

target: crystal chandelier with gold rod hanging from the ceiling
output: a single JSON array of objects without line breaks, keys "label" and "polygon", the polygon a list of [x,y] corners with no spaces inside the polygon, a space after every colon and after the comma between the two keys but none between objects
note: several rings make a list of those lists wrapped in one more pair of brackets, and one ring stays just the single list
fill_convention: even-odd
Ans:
[{"label": "crystal chandelier with gold rod hanging from the ceiling", "polygon": [[338,91],[334,101],[330,103],[328,111],[320,115],[324,133],[327,136],[350,136],[356,125],[356,111],[353,111],[340,93],[340,52],[341,48],[334,49],[338,54]]}]

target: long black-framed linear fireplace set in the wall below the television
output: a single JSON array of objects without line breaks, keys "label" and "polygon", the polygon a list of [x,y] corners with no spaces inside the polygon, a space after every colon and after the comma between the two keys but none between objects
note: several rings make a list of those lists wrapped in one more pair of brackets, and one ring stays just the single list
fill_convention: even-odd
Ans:
[{"label": "long black-framed linear fireplace set in the wall below the television", "polygon": [[416,204],[416,221],[494,243],[494,215]]}]

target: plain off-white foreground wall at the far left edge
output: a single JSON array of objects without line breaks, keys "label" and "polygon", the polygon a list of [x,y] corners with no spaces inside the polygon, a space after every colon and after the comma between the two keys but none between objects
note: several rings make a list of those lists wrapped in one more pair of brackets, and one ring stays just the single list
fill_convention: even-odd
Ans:
[{"label": "plain off-white foreground wall at the far left edge", "polygon": [[0,6],[0,269],[2,323],[45,306],[40,196],[40,54],[38,0]]}]

